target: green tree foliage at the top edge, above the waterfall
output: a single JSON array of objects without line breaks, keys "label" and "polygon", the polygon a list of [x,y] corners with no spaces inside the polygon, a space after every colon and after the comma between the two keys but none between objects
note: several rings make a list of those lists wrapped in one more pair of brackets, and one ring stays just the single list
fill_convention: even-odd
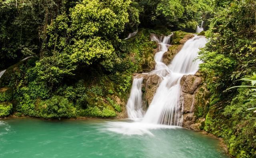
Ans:
[{"label": "green tree foliage at the top edge, above the waterfall", "polygon": [[[175,30],[195,32],[212,10],[210,0],[136,0],[142,26],[167,26]],[[201,19],[200,17],[203,17]]]}]

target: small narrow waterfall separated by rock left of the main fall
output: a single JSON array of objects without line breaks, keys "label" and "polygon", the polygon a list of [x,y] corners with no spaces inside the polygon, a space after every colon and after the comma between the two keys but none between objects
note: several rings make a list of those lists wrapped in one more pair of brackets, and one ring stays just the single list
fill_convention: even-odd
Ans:
[{"label": "small narrow waterfall separated by rock left of the main fall", "polygon": [[142,106],[142,81],[143,78],[134,78],[130,97],[126,104],[126,109],[129,118],[142,118],[144,110]]}]

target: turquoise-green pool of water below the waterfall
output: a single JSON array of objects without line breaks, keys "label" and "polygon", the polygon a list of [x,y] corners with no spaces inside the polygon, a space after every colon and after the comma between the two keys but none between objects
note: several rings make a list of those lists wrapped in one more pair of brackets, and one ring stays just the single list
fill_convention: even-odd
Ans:
[{"label": "turquoise-green pool of water below the waterfall", "polygon": [[0,158],[226,158],[219,141],[192,130],[123,135],[106,120],[0,120]]}]

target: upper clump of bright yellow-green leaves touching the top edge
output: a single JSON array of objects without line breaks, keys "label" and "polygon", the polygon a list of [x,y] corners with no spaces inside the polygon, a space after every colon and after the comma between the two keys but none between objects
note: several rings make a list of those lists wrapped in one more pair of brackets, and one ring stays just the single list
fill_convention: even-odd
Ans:
[{"label": "upper clump of bright yellow-green leaves touching the top edge", "polygon": [[75,38],[101,36],[116,39],[128,22],[127,8],[130,1],[123,0],[84,0],[71,11],[71,29]]}]

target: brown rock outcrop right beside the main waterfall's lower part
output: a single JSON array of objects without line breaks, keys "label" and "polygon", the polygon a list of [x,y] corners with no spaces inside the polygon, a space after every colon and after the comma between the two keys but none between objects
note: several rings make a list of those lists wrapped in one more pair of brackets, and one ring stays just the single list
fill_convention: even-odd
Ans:
[{"label": "brown rock outcrop right beside the main waterfall's lower part", "polygon": [[209,92],[203,84],[202,76],[184,75],[180,80],[183,106],[182,126],[193,130],[202,130],[204,127],[204,111],[209,103]]}]

